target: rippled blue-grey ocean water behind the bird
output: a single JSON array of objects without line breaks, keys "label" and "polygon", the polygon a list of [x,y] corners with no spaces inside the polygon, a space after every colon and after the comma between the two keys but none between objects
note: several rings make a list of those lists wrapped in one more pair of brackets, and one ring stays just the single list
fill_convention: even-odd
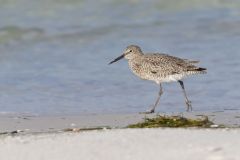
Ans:
[{"label": "rippled blue-grey ocean water behind the bird", "polygon": [[[0,113],[135,113],[158,86],[135,77],[127,45],[200,60],[190,77],[195,111],[240,109],[239,0],[0,0]],[[179,84],[164,84],[158,112],[184,112]]]}]

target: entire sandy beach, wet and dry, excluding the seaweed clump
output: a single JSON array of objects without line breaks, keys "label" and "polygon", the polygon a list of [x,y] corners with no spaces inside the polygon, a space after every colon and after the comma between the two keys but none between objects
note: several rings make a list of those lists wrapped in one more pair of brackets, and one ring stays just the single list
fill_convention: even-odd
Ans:
[{"label": "entire sandy beach, wet and dry, excluding the seaweed clump", "polygon": [[[240,158],[239,111],[175,114],[190,118],[207,115],[225,128],[125,129],[156,115],[1,116],[0,155],[8,160]],[[77,130],[94,127],[102,129]]]}]

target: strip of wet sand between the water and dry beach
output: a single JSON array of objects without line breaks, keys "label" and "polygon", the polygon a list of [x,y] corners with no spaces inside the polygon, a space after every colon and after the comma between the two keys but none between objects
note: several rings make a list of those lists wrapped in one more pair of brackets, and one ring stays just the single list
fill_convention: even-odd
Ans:
[{"label": "strip of wet sand between the water and dry beach", "polygon": [[47,133],[71,128],[124,128],[129,124],[142,122],[144,118],[153,118],[156,115],[181,115],[195,119],[208,116],[209,120],[216,125],[224,125],[227,128],[240,128],[239,110],[155,114],[86,114],[73,116],[6,114],[0,115],[0,133]]}]

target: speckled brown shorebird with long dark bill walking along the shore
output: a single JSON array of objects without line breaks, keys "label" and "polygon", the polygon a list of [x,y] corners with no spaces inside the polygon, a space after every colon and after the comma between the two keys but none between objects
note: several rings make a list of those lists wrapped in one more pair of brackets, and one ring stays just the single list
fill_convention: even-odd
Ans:
[{"label": "speckled brown shorebird with long dark bill walking along the shore", "polygon": [[206,68],[194,65],[199,61],[181,59],[163,53],[144,54],[139,46],[130,45],[121,56],[117,57],[109,64],[117,62],[122,58],[128,60],[129,68],[136,76],[144,80],[154,81],[160,87],[157,100],[152,108],[142,113],[155,112],[155,108],[159,104],[160,97],[163,94],[162,83],[164,82],[178,82],[180,84],[184,94],[187,111],[192,111],[191,101],[189,101],[187,97],[182,79],[190,75],[207,73]]}]

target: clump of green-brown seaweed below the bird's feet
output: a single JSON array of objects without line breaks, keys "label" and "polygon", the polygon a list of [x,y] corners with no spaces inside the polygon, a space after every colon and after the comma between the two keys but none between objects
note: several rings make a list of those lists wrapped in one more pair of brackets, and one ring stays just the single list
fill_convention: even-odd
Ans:
[{"label": "clump of green-brown seaweed below the bird's feet", "polygon": [[158,128],[158,127],[199,127],[210,128],[214,123],[207,116],[198,119],[185,118],[183,116],[160,116],[145,118],[144,122],[130,124],[127,128]]}]

